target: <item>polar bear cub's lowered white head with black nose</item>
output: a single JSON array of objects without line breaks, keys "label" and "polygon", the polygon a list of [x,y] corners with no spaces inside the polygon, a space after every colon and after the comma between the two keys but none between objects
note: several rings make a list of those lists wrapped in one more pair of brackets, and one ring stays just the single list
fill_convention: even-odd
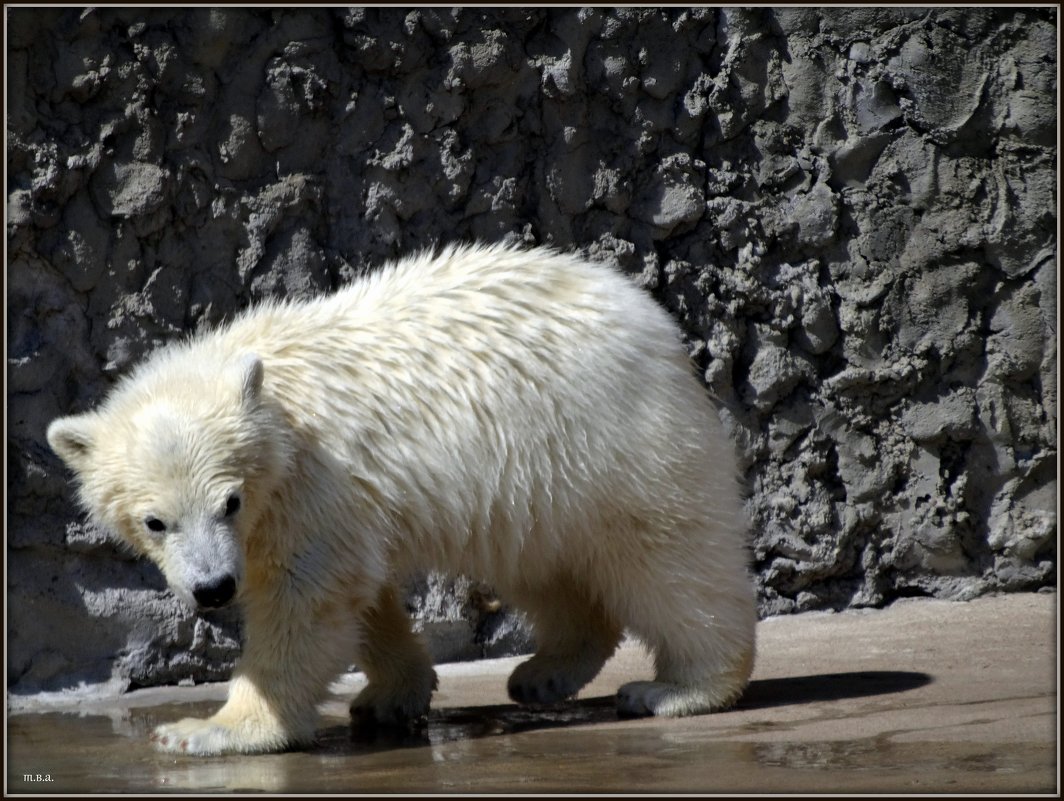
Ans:
[{"label": "polar bear cub's lowered white head with black nose", "polygon": [[284,453],[255,355],[212,367],[182,348],[140,366],[99,410],[54,420],[48,444],[79,499],[193,606],[237,594],[244,546]]}]

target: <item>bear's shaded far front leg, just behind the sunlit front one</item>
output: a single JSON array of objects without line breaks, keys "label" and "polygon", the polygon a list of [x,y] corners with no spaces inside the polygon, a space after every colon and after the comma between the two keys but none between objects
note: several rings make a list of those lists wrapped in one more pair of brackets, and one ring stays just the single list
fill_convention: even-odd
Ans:
[{"label": "bear's shaded far front leg, just behind the sunlit front one", "polygon": [[355,725],[408,727],[429,712],[436,672],[400,597],[396,587],[386,586],[363,614],[359,667],[369,684],[351,702]]}]

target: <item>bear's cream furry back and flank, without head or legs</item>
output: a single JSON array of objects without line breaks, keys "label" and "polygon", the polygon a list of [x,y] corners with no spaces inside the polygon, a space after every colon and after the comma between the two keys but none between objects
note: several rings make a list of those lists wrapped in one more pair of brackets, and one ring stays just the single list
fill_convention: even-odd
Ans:
[{"label": "bear's cream furry back and flank, without head or legs", "polygon": [[603,520],[680,524],[710,496],[717,517],[738,516],[719,506],[734,458],[676,323],[576,256],[448,248],[182,348],[174,361],[199,373],[256,354],[301,449],[288,480],[392,527],[420,566],[487,573],[529,541],[561,554]]}]

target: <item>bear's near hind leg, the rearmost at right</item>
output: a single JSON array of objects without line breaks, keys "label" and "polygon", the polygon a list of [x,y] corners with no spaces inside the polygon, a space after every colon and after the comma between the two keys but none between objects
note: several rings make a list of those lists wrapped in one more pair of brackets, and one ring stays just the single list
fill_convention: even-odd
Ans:
[{"label": "bear's near hind leg, the rearmost at right", "polygon": [[753,669],[757,611],[749,581],[724,591],[689,579],[643,593],[630,585],[630,591],[628,624],[653,652],[655,675],[621,686],[618,712],[680,717],[737,701]]}]

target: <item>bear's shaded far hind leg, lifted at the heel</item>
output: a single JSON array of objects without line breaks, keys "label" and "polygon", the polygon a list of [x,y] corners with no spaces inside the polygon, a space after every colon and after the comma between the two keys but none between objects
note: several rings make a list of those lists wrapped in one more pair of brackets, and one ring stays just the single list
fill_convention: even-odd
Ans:
[{"label": "bear's shaded far hind leg, lifted at the heel", "polygon": [[516,600],[532,622],[537,648],[511,674],[510,697],[518,703],[572,698],[616,650],[620,627],[571,587],[554,585],[550,593],[523,593]]}]

